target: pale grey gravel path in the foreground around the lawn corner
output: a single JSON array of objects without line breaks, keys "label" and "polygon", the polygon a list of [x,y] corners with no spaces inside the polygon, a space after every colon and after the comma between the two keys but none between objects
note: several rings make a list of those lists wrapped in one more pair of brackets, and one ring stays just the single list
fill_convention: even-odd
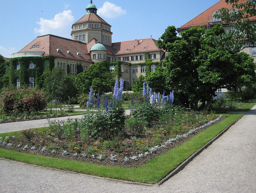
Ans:
[{"label": "pale grey gravel path in the foreground around the lawn corner", "polygon": [[255,193],[256,106],[160,187],[125,184],[0,159],[0,192]]}]

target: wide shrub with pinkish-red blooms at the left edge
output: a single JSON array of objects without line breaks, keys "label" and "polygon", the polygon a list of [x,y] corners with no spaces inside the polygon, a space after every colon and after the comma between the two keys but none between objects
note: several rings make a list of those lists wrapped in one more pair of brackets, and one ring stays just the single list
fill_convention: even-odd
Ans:
[{"label": "wide shrub with pinkish-red blooms at the left edge", "polygon": [[6,114],[31,113],[46,107],[44,94],[38,89],[3,89],[1,106]]}]

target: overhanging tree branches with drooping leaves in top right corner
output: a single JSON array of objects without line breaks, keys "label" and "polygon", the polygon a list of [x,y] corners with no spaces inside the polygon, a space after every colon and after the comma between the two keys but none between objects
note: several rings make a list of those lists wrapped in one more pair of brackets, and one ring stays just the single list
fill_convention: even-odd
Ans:
[{"label": "overhanging tree branches with drooping leaves in top right corner", "polygon": [[221,41],[227,35],[232,35],[230,49],[235,50],[256,46],[256,25],[250,21],[253,16],[256,16],[256,0],[229,0],[228,3],[232,4],[231,10],[221,8],[219,13],[214,15],[221,18],[225,24],[229,24],[231,29],[228,34],[221,34],[218,39]]}]

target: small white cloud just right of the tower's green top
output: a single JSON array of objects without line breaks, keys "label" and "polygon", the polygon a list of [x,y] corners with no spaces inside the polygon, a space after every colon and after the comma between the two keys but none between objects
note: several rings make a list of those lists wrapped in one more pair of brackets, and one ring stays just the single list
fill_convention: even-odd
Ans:
[{"label": "small white cloud just right of the tower's green top", "polygon": [[115,18],[120,15],[126,14],[126,10],[111,2],[105,1],[103,6],[97,10],[97,14],[106,18]]}]

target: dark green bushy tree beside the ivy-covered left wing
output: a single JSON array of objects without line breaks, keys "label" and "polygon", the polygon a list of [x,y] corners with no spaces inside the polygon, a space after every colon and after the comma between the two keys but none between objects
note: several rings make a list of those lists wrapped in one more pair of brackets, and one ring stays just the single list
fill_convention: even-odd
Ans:
[{"label": "dark green bushy tree beside the ivy-covered left wing", "polygon": [[44,74],[43,89],[51,97],[65,102],[69,97],[75,97],[77,90],[74,84],[74,76],[65,75],[61,67],[53,68]]}]

